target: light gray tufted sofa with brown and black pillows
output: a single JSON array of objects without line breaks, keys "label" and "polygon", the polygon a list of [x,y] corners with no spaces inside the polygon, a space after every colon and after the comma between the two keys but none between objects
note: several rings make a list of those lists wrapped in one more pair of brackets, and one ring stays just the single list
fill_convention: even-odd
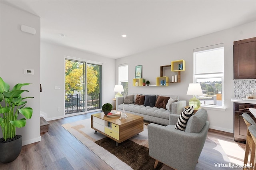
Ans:
[{"label": "light gray tufted sofa with brown and black pillows", "polygon": [[186,101],[180,101],[176,95],[130,93],[126,97],[116,98],[116,110],[122,111],[124,108],[128,113],[144,117],[144,121],[160,125],[169,125],[170,114],[180,115],[185,106]]}]

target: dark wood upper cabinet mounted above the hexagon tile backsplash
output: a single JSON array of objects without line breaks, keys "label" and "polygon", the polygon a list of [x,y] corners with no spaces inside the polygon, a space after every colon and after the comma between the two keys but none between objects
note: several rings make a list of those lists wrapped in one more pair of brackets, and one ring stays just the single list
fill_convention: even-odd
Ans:
[{"label": "dark wood upper cabinet mounted above the hexagon tile backsplash", "polygon": [[234,42],[234,79],[256,79],[256,37]]}]

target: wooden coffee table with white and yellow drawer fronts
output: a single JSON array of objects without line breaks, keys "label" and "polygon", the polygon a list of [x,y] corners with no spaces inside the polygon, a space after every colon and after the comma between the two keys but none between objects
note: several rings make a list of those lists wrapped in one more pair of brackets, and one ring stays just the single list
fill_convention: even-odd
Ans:
[{"label": "wooden coffee table with white and yellow drawer fronts", "polygon": [[107,117],[104,113],[91,115],[91,128],[118,143],[123,142],[143,131],[143,117],[126,113],[127,119]]}]

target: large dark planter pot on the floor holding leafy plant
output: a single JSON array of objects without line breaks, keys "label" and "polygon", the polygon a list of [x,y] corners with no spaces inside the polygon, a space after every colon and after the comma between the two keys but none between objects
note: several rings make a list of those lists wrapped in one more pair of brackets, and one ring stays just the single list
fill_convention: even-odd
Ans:
[{"label": "large dark planter pot on the floor holding leafy plant", "polygon": [[[20,135],[16,135],[20,136]],[[0,143],[0,162],[9,163],[14,161],[20,154],[22,148],[22,136],[10,142]]]}]

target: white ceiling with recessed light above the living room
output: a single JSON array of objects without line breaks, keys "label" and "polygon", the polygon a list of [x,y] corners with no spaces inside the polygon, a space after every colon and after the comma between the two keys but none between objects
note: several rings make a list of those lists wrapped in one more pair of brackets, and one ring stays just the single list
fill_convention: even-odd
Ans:
[{"label": "white ceiling with recessed light above the living room", "polygon": [[114,59],[256,20],[256,0],[1,2],[40,16],[42,41]]}]

